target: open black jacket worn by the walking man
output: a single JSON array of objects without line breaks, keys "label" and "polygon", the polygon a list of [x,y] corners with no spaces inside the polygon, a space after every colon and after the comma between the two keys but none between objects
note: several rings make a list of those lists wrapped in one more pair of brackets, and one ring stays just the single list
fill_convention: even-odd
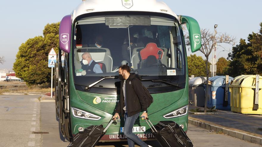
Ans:
[{"label": "open black jacket worn by the walking man", "polygon": [[[124,80],[120,81],[120,100],[116,106],[115,112],[119,113],[121,117],[124,117],[124,95],[123,84]],[[132,116],[141,111],[147,110],[147,101],[145,91],[141,83],[141,76],[130,73],[130,76],[126,80],[126,101],[127,101],[127,115]]]}]

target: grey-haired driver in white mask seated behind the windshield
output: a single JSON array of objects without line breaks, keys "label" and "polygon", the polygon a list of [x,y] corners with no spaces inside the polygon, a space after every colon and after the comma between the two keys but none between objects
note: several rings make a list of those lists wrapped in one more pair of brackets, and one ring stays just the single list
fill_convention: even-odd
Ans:
[{"label": "grey-haired driver in white mask seated behind the windshield", "polygon": [[82,61],[80,63],[82,65],[81,68],[83,69],[82,75],[103,73],[102,69],[100,68],[100,65],[92,59],[91,54],[88,52],[82,54]]}]

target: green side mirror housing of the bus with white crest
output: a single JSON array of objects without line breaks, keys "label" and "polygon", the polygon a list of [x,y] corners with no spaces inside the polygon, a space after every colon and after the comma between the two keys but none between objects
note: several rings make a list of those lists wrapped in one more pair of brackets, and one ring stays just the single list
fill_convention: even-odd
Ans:
[{"label": "green side mirror housing of the bus with white crest", "polygon": [[190,47],[192,53],[201,48],[201,31],[197,20],[189,16],[180,15],[180,23],[185,24],[189,32]]}]

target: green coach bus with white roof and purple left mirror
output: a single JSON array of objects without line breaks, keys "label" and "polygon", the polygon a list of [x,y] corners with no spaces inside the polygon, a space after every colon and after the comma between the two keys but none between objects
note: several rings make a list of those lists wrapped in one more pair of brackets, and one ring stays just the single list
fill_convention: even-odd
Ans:
[{"label": "green coach bus with white roof and purple left mirror", "polygon": [[[61,133],[70,140],[90,125],[112,118],[119,101],[118,67],[127,64],[142,76],[154,102],[148,108],[153,124],[175,121],[188,127],[188,66],[183,30],[191,51],[201,48],[194,18],[176,15],[156,0],[84,0],[60,23],[55,72],[56,110]],[[83,53],[91,58],[84,58]],[[95,61],[88,69],[83,60]],[[113,123],[100,141],[126,140],[123,120]],[[137,119],[133,132],[142,140],[154,136]]]}]

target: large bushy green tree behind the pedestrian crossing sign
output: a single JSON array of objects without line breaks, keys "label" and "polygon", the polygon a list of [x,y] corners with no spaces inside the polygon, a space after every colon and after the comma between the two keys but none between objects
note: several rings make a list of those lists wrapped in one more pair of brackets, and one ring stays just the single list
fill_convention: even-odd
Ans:
[{"label": "large bushy green tree behind the pedestrian crossing sign", "polygon": [[51,68],[48,67],[48,53],[51,48],[56,52],[59,47],[60,23],[47,24],[43,36],[28,39],[19,47],[13,69],[18,78],[27,85],[50,83]]}]

